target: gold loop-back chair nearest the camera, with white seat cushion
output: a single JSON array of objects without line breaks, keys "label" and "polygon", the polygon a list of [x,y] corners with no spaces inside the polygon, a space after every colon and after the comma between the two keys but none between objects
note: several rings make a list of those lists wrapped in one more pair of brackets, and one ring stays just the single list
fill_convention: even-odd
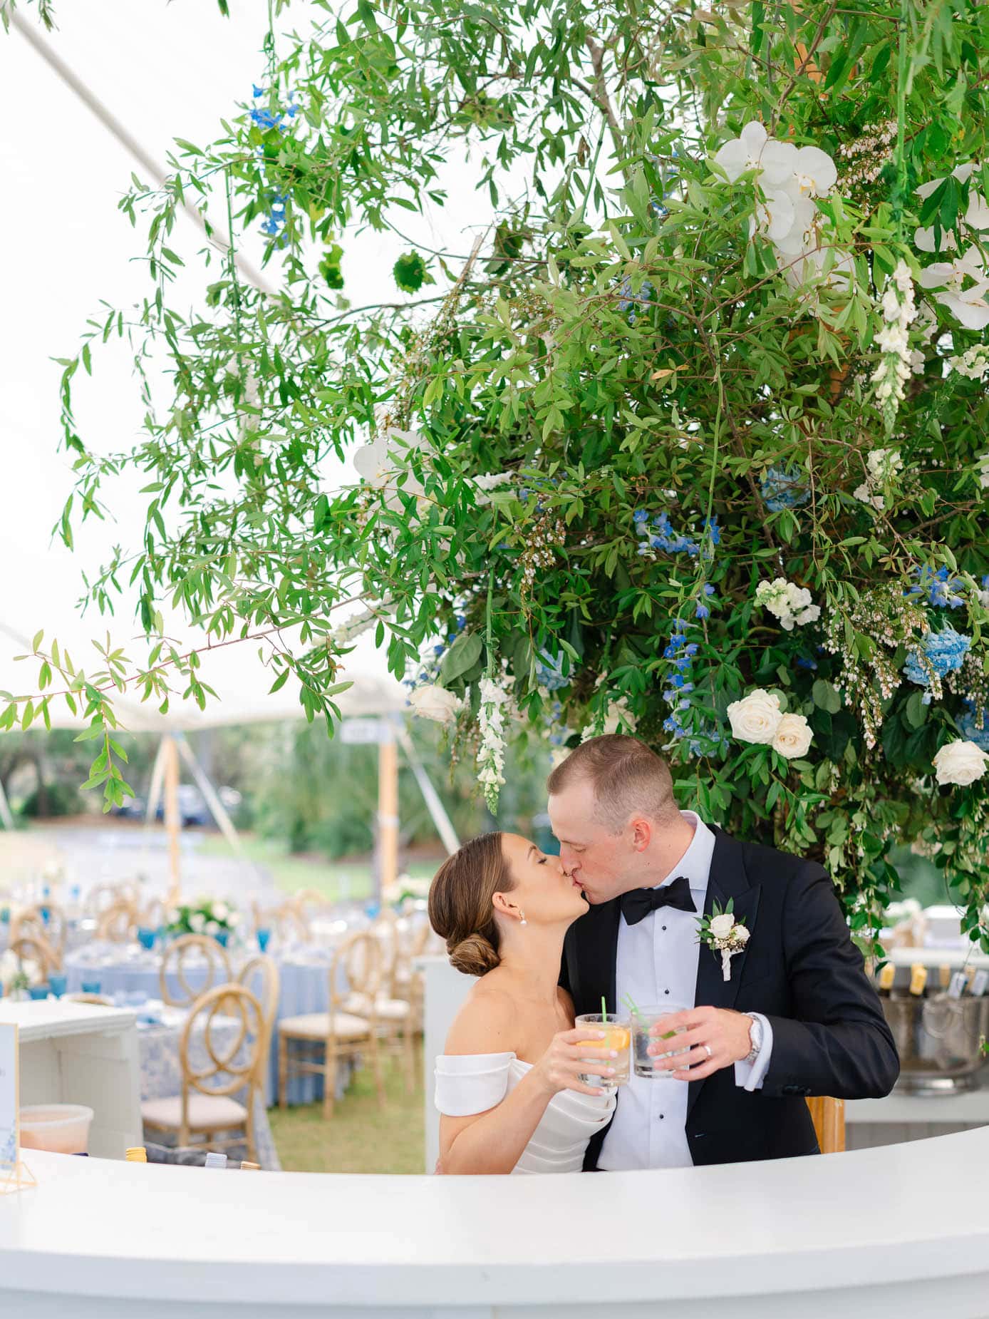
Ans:
[{"label": "gold loop-back chair nearest the camera, with white seat cushion", "polygon": [[[214,1031],[229,1030],[231,1017],[237,1022],[236,1038],[220,1047]],[[179,1039],[182,1091],[167,1099],[145,1100],[144,1125],[174,1133],[182,1148],[194,1138],[210,1149],[241,1145],[245,1140],[248,1159],[256,1162],[255,1099],[266,1058],[265,1039],[264,1009],[244,985],[222,984],[202,995]],[[243,1103],[233,1097],[241,1092]],[[236,1134],[240,1129],[244,1137]],[[219,1136],[220,1132],[235,1134]]]}]

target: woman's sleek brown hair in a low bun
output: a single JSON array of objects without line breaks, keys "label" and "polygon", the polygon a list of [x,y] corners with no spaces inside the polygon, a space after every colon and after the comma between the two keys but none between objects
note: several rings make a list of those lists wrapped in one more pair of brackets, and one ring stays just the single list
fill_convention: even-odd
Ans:
[{"label": "woman's sleek brown hair in a low bun", "polygon": [[514,888],[501,834],[481,834],[448,856],[430,885],[430,925],[447,942],[450,962],[468,976],[493,971],[498,927],[492,900]]}]

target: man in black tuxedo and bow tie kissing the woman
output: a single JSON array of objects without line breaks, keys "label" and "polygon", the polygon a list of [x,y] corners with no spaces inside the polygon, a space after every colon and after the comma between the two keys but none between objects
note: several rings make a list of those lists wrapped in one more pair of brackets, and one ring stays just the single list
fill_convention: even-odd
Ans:
[{"label": "man in black tuxedo and bow tie kissing the woman", "polygon": [[[816,861],[678,810],[666,762],[636,737],[592,737],[547,787],[560,859],[591,904],[563,946],[575,1010],[600,1012],[604,996],[624,1012],[626,995],[688,1009],[663,1029],[686,1026],[690,1054],[657,1058],[665,1075],[620,1088],[585,1171],[816,1154],[804,1096],[890,1092],[893,1035]],[[729,900],[749,939],[725,981],[698,917]]]}]

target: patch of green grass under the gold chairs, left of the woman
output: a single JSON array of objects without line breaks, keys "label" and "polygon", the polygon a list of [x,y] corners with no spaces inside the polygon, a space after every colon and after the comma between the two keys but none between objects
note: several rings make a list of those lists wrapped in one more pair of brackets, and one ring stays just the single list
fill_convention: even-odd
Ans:
[{"label": "patch of green grass under the gold chairs, left of the woman", "polygon": [[385,1059],[388,1103],[378,1109],[368,1068],[353,1080],[323,1120],[322,1104],[273,1108],[274,1145],[286,1173],[422,1173],[425,1158],[423,1091],[405,1092],[400,1068]]}]

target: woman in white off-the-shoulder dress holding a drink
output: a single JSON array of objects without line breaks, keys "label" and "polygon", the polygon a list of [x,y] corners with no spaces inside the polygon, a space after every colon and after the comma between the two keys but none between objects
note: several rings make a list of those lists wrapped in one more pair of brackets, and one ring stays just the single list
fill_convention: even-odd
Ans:
[{"label": "woman in white off-the-shoulder dress holding a drink", "polygon": [[559,859],[517,834],[483,834],[436,872],[430,922],[477,976],[436,1058],[438,1173],[579,1173],[611,1121],[614,1095],[578,1079],[580,1041],[604,1033],[574,1029],[556,984],[563,935],[587,909]]}]

